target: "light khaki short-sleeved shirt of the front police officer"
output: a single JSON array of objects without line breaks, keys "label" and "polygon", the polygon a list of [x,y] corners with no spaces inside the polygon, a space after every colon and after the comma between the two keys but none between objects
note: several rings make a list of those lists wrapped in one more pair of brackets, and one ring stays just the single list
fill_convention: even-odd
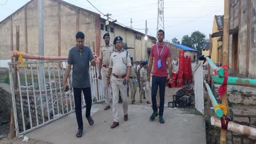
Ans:
[{"label": "light khaki short-sleeved shirt of the front police officer", "polygon": [[110,56],[109,68],[115,75],[127,74],[127,66],[131,66],[130,55],[127,50],[122,49],[121,52],[115,50]]}]

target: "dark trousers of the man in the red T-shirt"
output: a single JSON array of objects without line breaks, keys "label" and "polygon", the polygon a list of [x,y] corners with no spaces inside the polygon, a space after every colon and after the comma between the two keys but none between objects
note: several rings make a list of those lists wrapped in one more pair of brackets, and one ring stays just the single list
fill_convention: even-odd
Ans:
[{"label": "dark trousers of the man in the red T-shirt", "polygon": [[153,105],[153,111],[157,112],[157,89],[159,86],[159,116],[163,115],[163,106],[165,105],[165,83],[167,77],[156,77],[152,76],[152,90],[151,90],[151,100]]}]

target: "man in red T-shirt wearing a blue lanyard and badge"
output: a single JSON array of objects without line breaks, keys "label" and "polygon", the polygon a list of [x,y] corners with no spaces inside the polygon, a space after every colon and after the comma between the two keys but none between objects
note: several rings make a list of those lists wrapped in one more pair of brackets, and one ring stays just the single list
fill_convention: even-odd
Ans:
[{"label": "man in red T-shirt wearing a blue lanyard and badge", "polygon": [[163,30],[158,30],[157,32],[158,43],[157,45],[152,46],[149,58],[149,70],[147,71],[147,81],[150,81],[150,73],[153,65],[154,58],[154,69],[152,76],[152,91],[151,99],[153,104],[153,114],[150,116],[151,121],[155,119],[158,115],[157,109],[157,89],[159,86],[159,96],[160,96],[160,105],[159,105],[159,122],[165,123],[163,119],[163,108],[165,104],[165,83],[167,78],[167,65],[169,69],[170,83],[172,82],[172,71],[171,71],[171,51],[170,47],[165,45],[163,39],[165,38],[165,32]]}]

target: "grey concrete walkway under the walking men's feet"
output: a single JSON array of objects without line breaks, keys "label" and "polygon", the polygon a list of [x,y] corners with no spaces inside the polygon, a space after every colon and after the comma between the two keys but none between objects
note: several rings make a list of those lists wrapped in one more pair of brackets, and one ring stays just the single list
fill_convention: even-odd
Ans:
[{"label": "grey concrete walkway under the walking men's feet", "polygon": [[75,113],[26,134],[27,137],[50,143],[206,143],[205,121],[202,115],[182,114],[179,109],[165,107],[165,123],[158,118],[150,121],[150,105],[129,105],[129,120],[123,121],[119,104],[119,126],[113,123],[112,109],[104,111],[104,105],[94,104],[90,126],[83,110],[83,136],[75,137],[77,121]]}]

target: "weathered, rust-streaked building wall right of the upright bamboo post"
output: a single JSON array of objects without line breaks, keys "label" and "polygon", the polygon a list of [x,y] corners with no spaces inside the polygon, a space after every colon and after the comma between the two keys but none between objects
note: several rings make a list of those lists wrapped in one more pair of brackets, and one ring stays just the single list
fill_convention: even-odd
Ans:
[{"label": "weathered, rust-streaked building wall right of the upright bamboo post", "polygon": [[256,78],[256,1],[230,0],[229,68],[249,78]]}]

